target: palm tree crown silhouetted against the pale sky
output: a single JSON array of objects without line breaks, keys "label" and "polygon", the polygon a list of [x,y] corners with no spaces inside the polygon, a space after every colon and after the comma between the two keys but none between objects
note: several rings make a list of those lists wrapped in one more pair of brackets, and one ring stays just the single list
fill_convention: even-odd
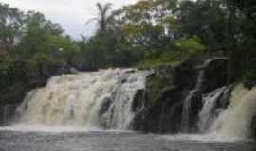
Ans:
[{"label": "palm tree crown silhouetted against the pale sky", "polygon": [[96,4],[98,8],[98,17],[92,18],[89,21],[87,21],[86,25],[91,23],[92,21],[97,21],[99,26],[100,26],[100,31],[105,32],[107,29],[107,25],[110,24],[112,21],[112,16],[108,14],[109,10],[111,9],[112,4],[111,3],[106,3],[106,4],[101,4],[97,3]]}]

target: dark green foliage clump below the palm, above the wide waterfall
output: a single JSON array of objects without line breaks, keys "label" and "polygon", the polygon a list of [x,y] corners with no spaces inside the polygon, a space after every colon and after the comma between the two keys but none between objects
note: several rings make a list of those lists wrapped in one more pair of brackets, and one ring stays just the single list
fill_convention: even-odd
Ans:
[{"label": "dark green foliage clump below the palm, above the wide waterfall", "polygon": [[108,67],[128,67],[141,59],[141,53],[129,45],[124,45],[116,32],[107,31],[98,34],[88,42],[82,42],[81,55],[77,62],[83,69]]}]

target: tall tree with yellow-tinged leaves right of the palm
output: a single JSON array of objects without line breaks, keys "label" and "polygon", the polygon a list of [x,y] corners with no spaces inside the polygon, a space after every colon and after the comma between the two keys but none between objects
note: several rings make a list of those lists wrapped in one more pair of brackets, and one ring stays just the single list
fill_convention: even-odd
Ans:
[{"label": "tall tree with yellow-tinged leaves right of the palm", "polygon": [[114,26],[121,30],[126,43],[134,49],[158,56],[171,48],[169,43],[178,25],[173,28],[174,20],[169,19],[173,17],[176,2],[145,0],[126,6],[116,11]]}]

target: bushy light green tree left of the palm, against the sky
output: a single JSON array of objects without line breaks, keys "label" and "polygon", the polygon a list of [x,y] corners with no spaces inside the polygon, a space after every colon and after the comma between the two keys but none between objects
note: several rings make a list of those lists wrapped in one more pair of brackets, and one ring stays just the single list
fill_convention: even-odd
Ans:
[{"label": "bushy light green tree left of the palm, against the sky", "polygon": [[26,14],[24,32],[15,53],[20,59],[29,59],[38,52],[46,52],[49,35],[61,36],[62,33],[63,29],[60,25],[46,20],[39,12],[30,11]]}]

